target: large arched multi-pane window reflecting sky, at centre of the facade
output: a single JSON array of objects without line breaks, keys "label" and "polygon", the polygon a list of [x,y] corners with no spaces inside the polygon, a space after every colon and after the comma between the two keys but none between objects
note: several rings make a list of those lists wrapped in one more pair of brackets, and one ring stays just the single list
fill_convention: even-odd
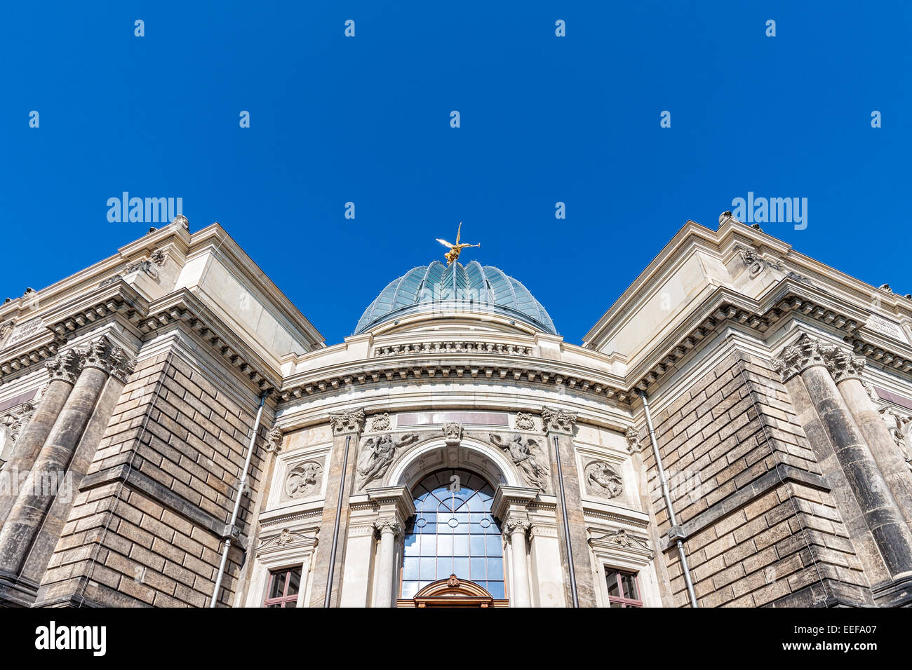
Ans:
[{"label": "large arched multi-pane window reflecting sky, at centre of the facade", "polygon": [[494,490],[476,474],[445,469],[411,491],[415,516],[405,532],[402,598],[451,574],[503,598],[503,541],[491,516]]}]

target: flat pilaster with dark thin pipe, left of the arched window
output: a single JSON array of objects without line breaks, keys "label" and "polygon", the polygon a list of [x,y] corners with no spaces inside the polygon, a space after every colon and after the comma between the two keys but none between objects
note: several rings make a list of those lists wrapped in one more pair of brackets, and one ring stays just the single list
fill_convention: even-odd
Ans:
[{"label": "flat pilaster with dark thin pipe, left of the arched window", "polygon": [[[333,531],[337,531],[336,561],[331,566],[332,586],[329,606],[337,607],[342,591],[342,562],[345,560],[345,545],[348,535],[348,498],[354,487],[355,460],[358,456],[358,438],[364,428],[364,410],[346,409],[329,415],[333,427],[333,450],[326,472],[326,500],[323,501],[323,515],[320,520],[319,544],[314,556],[314,587],[311,590],[310,606],[323,607],[326,603],[326,585],[330,580],[330,563],[333,555]],[[343,487],[344,482],[344,489]],[[339,490],[342,490],[341,505]],[[336,512],[339,524],[336,528]]]}]

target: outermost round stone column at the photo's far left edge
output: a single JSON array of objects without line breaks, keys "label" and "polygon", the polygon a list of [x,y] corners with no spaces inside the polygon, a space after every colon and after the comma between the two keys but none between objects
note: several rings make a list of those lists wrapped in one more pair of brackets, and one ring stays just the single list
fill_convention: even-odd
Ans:
[{"label": "outermost round stone column at the photo's far left edge", "polygon": [[19,482],[35,464],[38,452],[67,402],[81,369],[82,359],[72,349],[57,354],[57,357],[47,362],[47,370],[50,372],[47,389],[22,435],[16,439],[12,457],[0,472],[0,526],[3,526],[9,516],[9,510],[16,502]]}]

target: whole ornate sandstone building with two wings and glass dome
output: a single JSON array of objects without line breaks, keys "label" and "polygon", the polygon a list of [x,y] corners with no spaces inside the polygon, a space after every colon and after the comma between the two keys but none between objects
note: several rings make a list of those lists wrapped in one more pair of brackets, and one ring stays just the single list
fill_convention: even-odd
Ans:
[{"label": "whole ornate sandstone building with two wings and glass dome", "polygon": [[912,299],[730,212],[582,345],[459,260],[326,345],[182,217],[0,334],[6,605],[912,602]]}]

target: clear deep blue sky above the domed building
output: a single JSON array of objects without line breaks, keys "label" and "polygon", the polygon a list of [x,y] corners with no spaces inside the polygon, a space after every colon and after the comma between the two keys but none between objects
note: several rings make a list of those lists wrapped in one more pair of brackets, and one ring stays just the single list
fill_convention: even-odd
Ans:
[{"label": "clear deep blue sky above the domed building", "polygon": [[748,191],[807,198],[806,229],[764,231],[909,293],[910,17],[902,2],[5,4],[0,299],[146,232],[108,221],[122,191],[181,197],[192,230],[222,223],[330,344],[460,221],[482,242],[465,257],[525,283],[579,343],[684,222],[715,228]]}]

